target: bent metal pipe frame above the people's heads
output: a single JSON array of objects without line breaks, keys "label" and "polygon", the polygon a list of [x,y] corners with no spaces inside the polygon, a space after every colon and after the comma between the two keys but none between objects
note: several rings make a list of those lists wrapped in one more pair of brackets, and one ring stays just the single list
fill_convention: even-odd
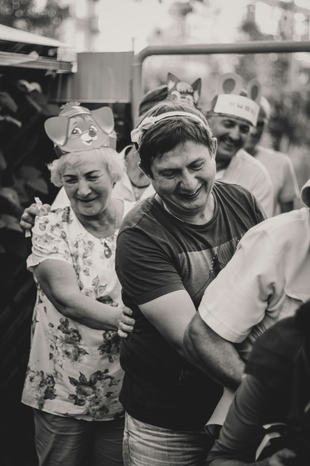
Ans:
[{"label": "bent metal pipe frame above the people's heads", "polygon": [[310,52],[310,41],[255,41],[235,44],[150,45],[134,56],[132,62],[132,121],[139,114],[142,97],[142,65],[150,55],[269,54]]}]

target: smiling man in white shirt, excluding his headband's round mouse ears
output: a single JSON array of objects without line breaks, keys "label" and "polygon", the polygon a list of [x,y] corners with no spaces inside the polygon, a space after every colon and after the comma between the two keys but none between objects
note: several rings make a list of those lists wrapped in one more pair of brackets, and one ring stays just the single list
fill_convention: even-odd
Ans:
[{"label": "smiling man in white shirt, excluding his headband's round mouse ears", "polygon": [[[255,126],[252,114],[236,110],[236,105],[230,105],[228,100],[221,101],[219,105],[219,97],[222,96],[213,98],[211,110],[207,112],[212,134],[218,141],[216,179],[249,189],[269,218],[273,214],[273,187],[270,176],[261,162],[242,150],[250,128]],[[231,96],[236,97],[235,94]],[[247,98],[243,90],[240,96]]]}]

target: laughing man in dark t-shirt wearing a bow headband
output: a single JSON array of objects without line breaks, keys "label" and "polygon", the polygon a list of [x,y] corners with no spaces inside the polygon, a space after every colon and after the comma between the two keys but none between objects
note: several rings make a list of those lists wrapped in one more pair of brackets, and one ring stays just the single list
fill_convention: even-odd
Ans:
[{"label": "laughing man in dark t-shirt wearing a bow headband", "polygon": [[[158,103],[139,120],[132,141],[157,194],[129,212],[117,241],[122,298],[136,321],[120,354],[124,463],[204,465],[212,445],[204,424],[222,396],[220,384],[240,383],[243,363],[215,336],[199,370],[183,336],[205,288],[265,217],[251,192],[214,182],[216,139],[190,104]],[[220,384],[209,377],[219,359]]]}]

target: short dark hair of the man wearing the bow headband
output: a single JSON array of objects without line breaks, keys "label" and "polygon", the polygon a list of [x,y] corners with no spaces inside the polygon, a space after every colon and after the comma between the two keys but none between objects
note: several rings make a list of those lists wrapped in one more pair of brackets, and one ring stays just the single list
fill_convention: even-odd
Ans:
[{"label": "short dark hair of the man wearing the bow headband", "polygon": [[215,153],[215,142],[212,140],[212,133],[207,120],[203,114],[189,103],[184,97],[178,97],[172,102],[160,102],[148,110],[143,117],[140,117],[136,128],[146,117],[157,117],[163,113],[172,111],[182,111],[192,113],[199,117],[198,120],[175,116],[163,118],[156,122],[151,128],[145,130],[140,145],[136,144],[141,160],[141,166],[147,175],[152,177],[152,161],[156,157],[162,157],[166,152],[172,151],[178,145],[184,145],[187,141],[206,146],[211,153]]}]

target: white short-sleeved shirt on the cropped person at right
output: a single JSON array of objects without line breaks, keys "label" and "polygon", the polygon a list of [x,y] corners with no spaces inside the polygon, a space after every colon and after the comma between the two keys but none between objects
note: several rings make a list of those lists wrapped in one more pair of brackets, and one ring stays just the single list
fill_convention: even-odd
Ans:
[{"label": "white short-sleeved shirt on the cropped person at right", "polygon": [[251,228],[206,288],[199,314],[218,335],[237,343],[243,360],[277,320],[310,299],[310,211],[284,213]]}]

